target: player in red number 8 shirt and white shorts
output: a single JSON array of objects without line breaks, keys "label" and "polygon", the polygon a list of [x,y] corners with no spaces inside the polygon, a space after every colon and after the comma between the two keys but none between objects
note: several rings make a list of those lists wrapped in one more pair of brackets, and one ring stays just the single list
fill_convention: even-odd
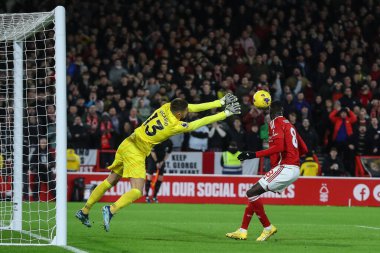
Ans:
[{"label": "player in red number 8 shirt and white shorts", "polygon": [[283,108],[279,101],[274,101],[269,114],[269,148],[258,152],[242,152],[239,160],[270,157],[271,170],[247,191],[248,205],[245,208],[241,227],[226,236],[233,239],[246,240],[247,229],[252,215],[255,213],[264,227],[256,241],[266,241],[277,232],[265,213],[260,195],[267,192],[281,193],[299,176],[299,157],[307,153],[307,147],[298,135],[295,127],[283,116]]}]

